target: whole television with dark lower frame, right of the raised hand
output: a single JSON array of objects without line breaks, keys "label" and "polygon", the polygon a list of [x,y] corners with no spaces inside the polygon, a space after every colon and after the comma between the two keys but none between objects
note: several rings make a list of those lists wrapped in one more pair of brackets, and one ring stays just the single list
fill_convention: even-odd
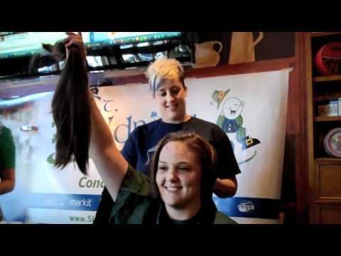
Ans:
[{"label": "whole television with dark lower frame, right of the raised hand", "polygon": [[[88,69],[137,68],[166,55],[182,63],[193,60],[185,32],[81,32]],[[187,44],[187,45],[186,45]]]}]

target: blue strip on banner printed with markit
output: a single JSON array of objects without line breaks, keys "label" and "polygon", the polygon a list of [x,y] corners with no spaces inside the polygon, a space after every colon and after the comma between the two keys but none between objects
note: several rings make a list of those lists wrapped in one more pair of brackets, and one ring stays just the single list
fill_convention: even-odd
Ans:
[{"label": "blue strip on banner printed with markit", "polygon": [[31,193],[28,207],[96,211],[101,195]]}]

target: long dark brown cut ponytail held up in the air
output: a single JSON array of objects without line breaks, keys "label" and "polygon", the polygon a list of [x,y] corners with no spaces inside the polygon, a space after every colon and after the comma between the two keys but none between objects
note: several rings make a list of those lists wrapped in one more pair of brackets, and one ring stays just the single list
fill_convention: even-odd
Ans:
[{"label": "long dark brown cut ponytail held up in the air", "polygon": [[74,156],[87,174],[91,134],[87,70],[77,46],[72,46],[52,100],[57,127],[55,166],[64,168]]}]

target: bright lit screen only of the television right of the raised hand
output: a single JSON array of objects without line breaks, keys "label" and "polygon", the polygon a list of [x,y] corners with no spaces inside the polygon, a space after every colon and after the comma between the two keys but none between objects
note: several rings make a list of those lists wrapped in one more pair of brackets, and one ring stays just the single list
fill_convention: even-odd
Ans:
[{"label": "bright lit screen only of the television right of the raised hand", "polygon": [[126,43],[144,43],[150,41],[179,38],[181,32],[81,32],[85,46],[101,48]]}]

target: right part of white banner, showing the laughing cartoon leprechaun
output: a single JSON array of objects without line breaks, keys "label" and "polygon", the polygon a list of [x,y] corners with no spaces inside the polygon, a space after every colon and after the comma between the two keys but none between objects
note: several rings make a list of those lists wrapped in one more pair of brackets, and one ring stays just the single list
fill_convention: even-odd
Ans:
[{"label": "right part of white banner, showing the laughing cartoon leprechaun", "polygon": [[[281,70],[188,80],[188,112],[218,124],[242,171],[234,198],[214,197],[238,223],[278,223],[288,73]],[[199,89],[200,88],[200,89]]]}]

